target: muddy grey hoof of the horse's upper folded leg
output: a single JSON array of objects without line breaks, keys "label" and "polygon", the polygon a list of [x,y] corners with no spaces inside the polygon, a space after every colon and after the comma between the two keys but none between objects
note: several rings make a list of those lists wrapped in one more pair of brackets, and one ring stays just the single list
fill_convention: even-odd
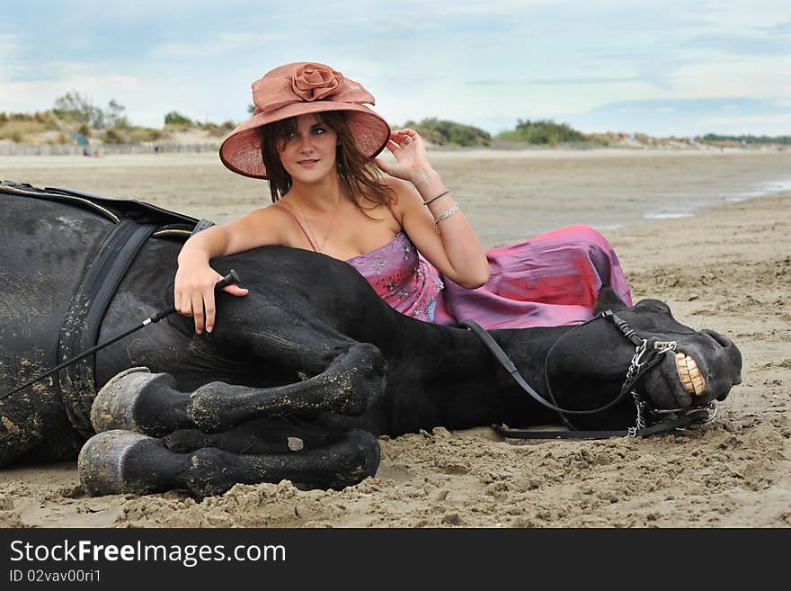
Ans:
[{"label": "muddy grey hoof of the horse's upper folded leg", "polygon": [[91,425],[96,433],[111,429],[137,431],[135,405],[147,388],[159,381],[173,385],[168,373],[151,373],[147,367],[133,367],[118,373],[108,381],[93,399]]}]

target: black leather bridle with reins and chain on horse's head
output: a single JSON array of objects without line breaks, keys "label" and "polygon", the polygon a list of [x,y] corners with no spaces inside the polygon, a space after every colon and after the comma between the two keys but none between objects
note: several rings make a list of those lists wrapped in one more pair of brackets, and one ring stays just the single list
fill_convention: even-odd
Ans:
[{"label": "black leather bridle with reins and chain on horse's head", "polygon": [[[555,351],[555,347],[559,345],[562,340],[572,335],[574,331],[587,326],[599,318],[608,319],[618,328],[623,336],[635,345],[635,354],[632,356],[632,360],[629,363],[625,380],[621,385],[618,395],[603,406],[587,410],[571,410],[558,407],[549,382],[548,369],[552,353]],[[646,399],[638,393],[635,388],[637,381],[639,381],[646,372],[659,363],[662,363],[663,354],[674,353],[677,344],[675,341],[660,341],[658,339],[643,338],[628,325],[626,320],[619,318],[612,310],[600,312],[590,320],[573,327],[572,330],[557,339],[555,344],[550,347],[544,361],[544,383],[547,387],[547,396],[549,400],[543,398],[536,390],[530,387],[529,383],[521,376],[516,365],[508,357],[508,354],[502,350],[502,347],[497,344],[484,328],[480,327],[480,325],[473,320],[465,320],[461,322],[459,326],[467,327],[474,332],[502,364],[505,371],[511,375],[511,378],[520,385],[520,388],[525,390],[542,406],[557,412],[561,421],[569,429],[568,431],[536,431],[511,429],[505,425],[492,425],[495,431],[506,437],[519,439],[608,439],[609,437],[644,437],[651,434],[675,431],[693,424],[707,423],[714,420],[716,416],[717,407],[715,401],[712,401],[707,407],[660,409],[654,407],[650,399]],[[631,395],[632,398],[634,398],[636,407],[635,425],[627,429],[580,431],[573,426],[568,418],[569,415],[593,415],[604,412],[611,407],[615,407],[626,398],[627,395]]]}]

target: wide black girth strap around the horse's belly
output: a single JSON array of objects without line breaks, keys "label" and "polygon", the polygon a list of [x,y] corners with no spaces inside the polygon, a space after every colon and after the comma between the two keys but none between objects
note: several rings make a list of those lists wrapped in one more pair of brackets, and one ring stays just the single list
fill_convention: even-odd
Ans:
[{"label": "wide black girth strap around the horse's belly", "polygon": [[[154,224],[139,224],[129,218],[112,225],[110,233],[85,267],[69,304],[58,339],[58,363],[96,345],[102,319],[115,291],[143,243],[156,228]],[[93,435],[87,409],[96,396],[95,375],[96,356],[90,355],[58,372],[56,381],[69,420],[86,437]]]}]

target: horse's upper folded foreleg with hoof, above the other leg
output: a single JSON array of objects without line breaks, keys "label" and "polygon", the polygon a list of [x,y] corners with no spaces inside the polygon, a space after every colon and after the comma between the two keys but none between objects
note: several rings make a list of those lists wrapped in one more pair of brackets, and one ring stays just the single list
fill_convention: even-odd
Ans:
[{"label": "horse's upper folded foreleg with hoof, above the other leg", "polygon": [[[374,345],[348,340],[332,353],[317,375],[273,388],[213,381],[181,392],[167,373],[126,372],[109,381],[93,401],[93,428],[161,436],[185,428],[217,433],[266,416],[322,411],[358,416],[384,391],[384,358]],[[302,371],[297,360],[291,361]]]}]

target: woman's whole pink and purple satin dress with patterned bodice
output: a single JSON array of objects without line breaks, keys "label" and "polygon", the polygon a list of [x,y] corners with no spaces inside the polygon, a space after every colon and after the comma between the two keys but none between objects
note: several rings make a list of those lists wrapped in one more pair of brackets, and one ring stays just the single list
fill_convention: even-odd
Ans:
[{"label": "woman's whole pink and purple satin dress with patterned bodice", "polygon": [[632,304],[618,256],[607,238],[588,226],[560,228],[493,248],[486,257],[489,281],[476,290],[442,277],[404,230],[386,245],[346,262],[394,309],[443,325],[462,320],[475,320],[486,329],[579,324],[592,318],[604,285]]}]

